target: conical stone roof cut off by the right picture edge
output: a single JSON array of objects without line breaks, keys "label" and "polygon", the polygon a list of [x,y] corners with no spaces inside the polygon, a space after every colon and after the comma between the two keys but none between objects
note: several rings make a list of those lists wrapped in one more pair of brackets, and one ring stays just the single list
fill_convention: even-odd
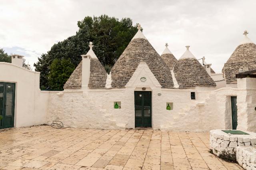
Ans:
[{"label": "conical stone roof cut off by the right picture edge", "polygon": [[244,40],[236,47],[228,61],[222,68],[222,73],[226,83],[236,83],[236,74],[239,69],[248,67],[248,70],[256,69],[256,45],[248,37],[248,32],[244,32]]}]

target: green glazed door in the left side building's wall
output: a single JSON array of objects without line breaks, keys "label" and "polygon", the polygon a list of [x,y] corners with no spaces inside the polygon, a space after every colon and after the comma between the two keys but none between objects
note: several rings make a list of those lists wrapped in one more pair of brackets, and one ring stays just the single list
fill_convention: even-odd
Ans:
[{"label": "green glazed door in the left side building's wall", "polygon": [[0,128],[14,127],[15,83],[0,82]]}]

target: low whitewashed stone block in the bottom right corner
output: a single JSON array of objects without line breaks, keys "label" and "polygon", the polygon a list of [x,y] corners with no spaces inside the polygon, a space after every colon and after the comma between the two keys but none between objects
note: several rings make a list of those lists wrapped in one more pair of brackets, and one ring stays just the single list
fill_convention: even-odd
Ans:
[{"label": "low whitewashed stone block in the bottom right corner", "polygon": [[245,170],[256,170],[256,148],[252,146],[237,146],[236,161]]}]

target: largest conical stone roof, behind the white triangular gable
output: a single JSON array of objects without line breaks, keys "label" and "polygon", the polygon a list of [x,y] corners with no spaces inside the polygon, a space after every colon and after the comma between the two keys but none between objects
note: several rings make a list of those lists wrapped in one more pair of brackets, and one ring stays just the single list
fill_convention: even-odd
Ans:
[{"label": "largest conical stone roof, behind the white triangular gable", "polygon": [[124,87],[140,62],[146,62],[162,88],[173,88],[172,74],[163,59],[140,31],[132,38],[111,69],[112,88]]}]

